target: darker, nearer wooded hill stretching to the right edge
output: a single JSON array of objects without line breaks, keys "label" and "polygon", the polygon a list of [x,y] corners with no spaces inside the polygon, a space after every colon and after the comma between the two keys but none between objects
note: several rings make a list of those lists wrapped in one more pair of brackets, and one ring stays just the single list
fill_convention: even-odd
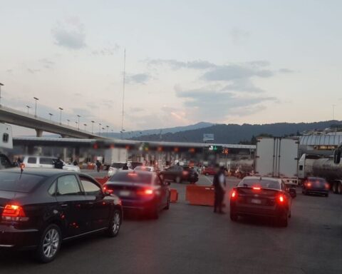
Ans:
[{"label": "darker, nearer wooded hill stretching to the right edge", "polygon": [[[206,128],[197,128],[188,131],[175,133],[150,134],[148,136],[135,137],[140,141],[175,141],[175,142],[199,142],[203,141],[204,133],[213,133],[215,143],[239,143],[250,141],[253,136],[260,134],[270,134],[272,136],[297,135],[303,131],[323,130],[331,125],[342,124],[341,121],[321,121],[316,123],[270,123],[261,125],[251,125],[244,123],[237,124],[217,124]],[[161,137],[161,138],[160,138]]]}]

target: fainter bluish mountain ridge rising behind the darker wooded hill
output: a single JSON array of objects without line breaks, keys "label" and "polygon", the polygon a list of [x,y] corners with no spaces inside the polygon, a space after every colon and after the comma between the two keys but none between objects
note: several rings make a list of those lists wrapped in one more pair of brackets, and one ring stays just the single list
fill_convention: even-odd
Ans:
[{"label": "fainter bluish mountain ridge rising behind the darker wooded hill", "polygon": [[[190,131],[199,128],[207,128],[209,126],[214,125],[213,123],[207,122],[199,122],[190,126],[176,126],[175,128],[155,128],[155,129],[147,129],[145,131],[126,131],[125,138],[140,138],[141,136],[150,136],[157,135],[160,136],[160,133],[176,133],[181,131]],[[106,135],[105,135],[106,136]],[[108,133],[108,137],[110,138],[120,138],[121,133]]]}]

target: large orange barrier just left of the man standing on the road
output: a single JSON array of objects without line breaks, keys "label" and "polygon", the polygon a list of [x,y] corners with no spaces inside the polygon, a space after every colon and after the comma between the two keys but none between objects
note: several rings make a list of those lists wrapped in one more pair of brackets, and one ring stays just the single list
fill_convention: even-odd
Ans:
[{"label": "large orange barrier just left of the man standing on the road", "polygon": [[209,205],[214,206],[214,187],[188,185],[185,199],[190,205]]}]

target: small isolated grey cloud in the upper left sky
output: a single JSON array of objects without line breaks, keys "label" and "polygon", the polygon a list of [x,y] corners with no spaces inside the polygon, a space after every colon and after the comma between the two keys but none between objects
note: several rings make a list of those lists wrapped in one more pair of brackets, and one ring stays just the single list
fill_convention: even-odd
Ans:
[{"label": "small isolated grey cloud in the upper left sky", "polygon": [[77,17],[68,17],[58,22],[51,33],[58,46],[67,49],[82,49],[86,46],[84,26]]}]

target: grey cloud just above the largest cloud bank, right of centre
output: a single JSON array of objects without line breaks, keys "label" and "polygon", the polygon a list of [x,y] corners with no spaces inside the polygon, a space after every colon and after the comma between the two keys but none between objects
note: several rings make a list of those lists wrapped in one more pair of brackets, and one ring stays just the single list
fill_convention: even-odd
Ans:
[{"label": "grey cloud just above the largest cloud bank, right of centre", "polygon": [[232,81],[242,78],[251,78],[254,76],[266,78],[273,75],[273,71],[259,68],[259,66],[249,66],[248,64],[230,64],[225,66],[217,66],[217,68],[204,73],[201,78],[206,81]]}]

